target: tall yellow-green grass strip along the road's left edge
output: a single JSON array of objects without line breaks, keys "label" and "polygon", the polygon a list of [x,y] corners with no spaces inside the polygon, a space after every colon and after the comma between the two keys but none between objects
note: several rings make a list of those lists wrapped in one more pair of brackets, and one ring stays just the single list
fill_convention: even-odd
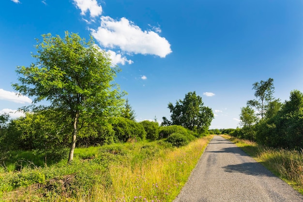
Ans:
[{"label": "tall yellow-green grass strip along the road's left edge", "polygon": [[171,202],[179,194],[211,138],[198,139],[156,158],[142,161],[138,158],[134,166],[112,165],[109,168],[111,186],[94,186],[92,194],[80,197],[80,201]]}]

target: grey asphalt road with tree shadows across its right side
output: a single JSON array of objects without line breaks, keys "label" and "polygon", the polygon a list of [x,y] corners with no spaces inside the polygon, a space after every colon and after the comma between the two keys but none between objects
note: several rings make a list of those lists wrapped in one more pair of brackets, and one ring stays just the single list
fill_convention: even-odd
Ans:
[{"label": "grey asphalt road with tree shadows across its right side", "polygon": [[303,202],[234,143],[215,136],[174,202]]}]

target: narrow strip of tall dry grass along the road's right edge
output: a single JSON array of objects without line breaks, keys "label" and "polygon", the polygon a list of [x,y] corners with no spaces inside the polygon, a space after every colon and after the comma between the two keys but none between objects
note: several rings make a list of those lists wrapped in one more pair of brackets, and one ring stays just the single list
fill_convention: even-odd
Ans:
[{"label": "narrow strip of tall dry grass along the road's right edge", "polygon": [[303,151],[269,148],[253,141],[222,136],[235,142],[244,152],[303,194]]}]

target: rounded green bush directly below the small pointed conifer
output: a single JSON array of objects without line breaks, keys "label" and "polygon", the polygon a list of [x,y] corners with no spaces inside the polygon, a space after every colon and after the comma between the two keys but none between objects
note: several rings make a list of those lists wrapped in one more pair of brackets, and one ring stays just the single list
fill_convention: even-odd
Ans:
[{"label": "rounded green bush directly below the small pointed conifer", "polygon": [[140,123],[136,123],[130,119],[117,117],[112,119],[112,127],[118,140],[126,142],[128,140],[144,140],[146,132]]}]

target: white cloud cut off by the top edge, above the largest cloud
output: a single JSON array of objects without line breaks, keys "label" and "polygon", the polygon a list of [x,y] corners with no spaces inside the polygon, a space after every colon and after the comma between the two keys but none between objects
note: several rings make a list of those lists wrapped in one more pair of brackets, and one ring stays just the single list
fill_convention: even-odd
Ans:
[{"label": "white cloud cut off by the top edge, above the largest cloud", "polygon": [[81,10],[81,15],[85,15],[90,11],[91,17],[100,16],[102,14],[102,6],[98,5],[97,0],[74,0],[76,6]]}]

